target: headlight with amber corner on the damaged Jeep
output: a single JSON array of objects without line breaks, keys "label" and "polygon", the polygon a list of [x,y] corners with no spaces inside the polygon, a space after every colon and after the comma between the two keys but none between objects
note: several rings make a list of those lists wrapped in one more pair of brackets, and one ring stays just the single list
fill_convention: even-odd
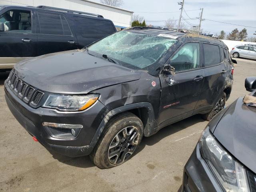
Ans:
[{"label": "headlight with amber corner on the damaged Jeep", "polygon": [[92,106],[97,100],[98,95],[49,95],[43,107],[54,108],[60,111],[82,111]]}]

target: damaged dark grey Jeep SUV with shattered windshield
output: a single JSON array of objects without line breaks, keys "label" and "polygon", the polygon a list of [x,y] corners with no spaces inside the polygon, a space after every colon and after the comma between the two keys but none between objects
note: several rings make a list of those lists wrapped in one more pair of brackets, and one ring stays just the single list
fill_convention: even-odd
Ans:
[{"label": "damaged dark grey Jeep SUV with shattered windshield", "polygon": [[134,27],[16,64],[5,98],[46,148],[111,168],[142,136],[194,114],[215,116],[230,96],[232,64],[220,40]]}]

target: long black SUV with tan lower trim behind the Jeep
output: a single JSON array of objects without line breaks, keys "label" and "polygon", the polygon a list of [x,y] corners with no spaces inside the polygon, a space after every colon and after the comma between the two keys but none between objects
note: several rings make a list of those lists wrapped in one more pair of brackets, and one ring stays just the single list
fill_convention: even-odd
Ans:
[{"label": "long black SUV with tan lower trim behind the Jeep", "polygon": [[26,58],[81,49],[116,32],[111,20],[48,6],[0,6],[0,70]]}]

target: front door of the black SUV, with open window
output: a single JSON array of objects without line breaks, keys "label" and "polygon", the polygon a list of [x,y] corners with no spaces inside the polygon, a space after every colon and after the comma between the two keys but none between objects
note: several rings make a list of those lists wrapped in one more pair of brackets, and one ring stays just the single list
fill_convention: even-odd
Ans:
[{"label": "front door of the black SUV, with open window", "polygon": [[0,32],[0,68],[11,68],[25,58],[37,56],[34,10],[10,8],[0,14],[4,31]]}]

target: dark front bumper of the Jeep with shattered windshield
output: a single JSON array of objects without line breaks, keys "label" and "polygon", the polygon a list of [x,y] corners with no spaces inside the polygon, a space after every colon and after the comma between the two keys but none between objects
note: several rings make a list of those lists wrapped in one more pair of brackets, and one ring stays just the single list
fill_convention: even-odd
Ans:
[{"label": "dark front bumper of the Jeep with shattered windshield", "polygon": [[[92,152],[98,138],[98,130],[107,113],[106,107],[97,101],[93,107],[82,112],[60,112],[48,108],[32,108],[20,100],[4,82],[6,103],[18,122],[35,136],[46,148],[66,156],[85,156]],[[42,122],[62,124],[81,124],[76,138],[58,138],[51,136]]]}]

